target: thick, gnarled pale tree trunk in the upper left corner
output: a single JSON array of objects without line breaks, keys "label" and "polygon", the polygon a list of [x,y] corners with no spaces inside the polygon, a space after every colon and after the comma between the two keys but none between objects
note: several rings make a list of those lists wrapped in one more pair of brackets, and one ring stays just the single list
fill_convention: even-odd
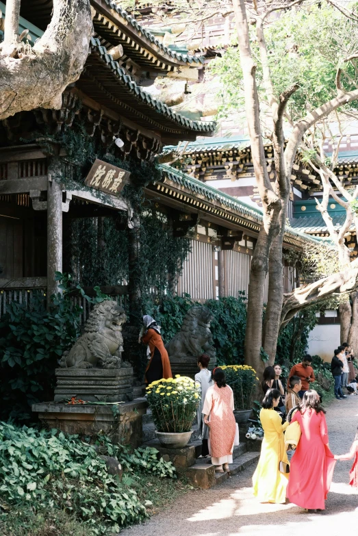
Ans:
[{"label": "thick, gnarled pale tree trunk in the upper left corner", "polygon": [[[14,39],[18,31],[18,5],[18,0],[7,3],[7,40]],[[90,0],[53,0],[51,23],[33,48],[21,42],[15,46],[3,43],[0,120],[38,107],[60,109],[62,93],[84,69],[92,31]]]}]

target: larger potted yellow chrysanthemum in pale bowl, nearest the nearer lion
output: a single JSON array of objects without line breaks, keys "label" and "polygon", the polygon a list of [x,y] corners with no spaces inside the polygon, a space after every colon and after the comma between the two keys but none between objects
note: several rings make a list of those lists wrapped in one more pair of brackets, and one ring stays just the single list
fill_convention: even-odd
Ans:
[{"label": "larger potted yellow chrysanthemum in pale bowl, nearest the nearer lion", "polygon": [[181,448],[188,444],[200,396],[199,383],[179,374],[146,387],[155,434],[163,446]]}]

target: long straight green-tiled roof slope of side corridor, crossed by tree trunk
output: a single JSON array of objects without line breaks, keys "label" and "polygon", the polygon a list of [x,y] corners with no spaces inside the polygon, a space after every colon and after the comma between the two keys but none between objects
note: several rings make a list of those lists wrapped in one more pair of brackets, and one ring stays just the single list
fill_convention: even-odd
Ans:
[{"label": "long straight green-tiled roof slope of side corridor, crossed by tree trunk", "polygon": [[[229,210],[231,209],[241,214],[244,218],[250,218],[251,220],[255,220],[257,224],[261,224],[263,220],[261,210],[251,207],[243,201],[235,199],[229,194],[217,190],[213,186],[209,186],[207,183],[194,179],[194,177],[190,177],[190,175],[186,175],[186,173],[182,173],[181,171],[172,168],[172,166],[168,166],[168,164],[161,164],[160,168],[162,168],[164,176],[168,177],[168,179],[177,183],[178,185],[191,190],[194,194],[200,196],[200,199],[205,198],[209,201],[217,201],[220,203],[220,205],[222,205],[222,207],[225,207]],[[327,242],[321,238],[311,237],[290,226],[286,226],[285,235],[287,238],[296,238],[303,242]]]}]

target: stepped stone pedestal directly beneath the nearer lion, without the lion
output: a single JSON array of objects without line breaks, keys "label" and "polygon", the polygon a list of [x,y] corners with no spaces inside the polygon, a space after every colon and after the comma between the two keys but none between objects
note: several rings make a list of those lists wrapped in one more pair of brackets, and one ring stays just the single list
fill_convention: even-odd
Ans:
[{"label": "stepped stone pedestal directly beneath the nearer lion, without the lion", "polygon": [[64,398],[90,402],[133,400],[133,368],[57,368],[55,402]]}]

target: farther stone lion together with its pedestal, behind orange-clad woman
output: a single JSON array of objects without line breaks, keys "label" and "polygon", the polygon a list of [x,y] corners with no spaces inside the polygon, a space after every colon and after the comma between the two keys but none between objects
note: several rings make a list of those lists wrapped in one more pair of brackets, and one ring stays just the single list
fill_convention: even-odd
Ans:
[{"label": "farther stone lion together with its pedestal, behind orange-clad woman", "polygon": [[192,307],[186,314],[181,330],[166,345],[172,375],[194,376],[199,372],[197,360],[203,351],[210,356],[209,370],[216,366],[215,348],[212,344],[212,312],[207,307]]}]

